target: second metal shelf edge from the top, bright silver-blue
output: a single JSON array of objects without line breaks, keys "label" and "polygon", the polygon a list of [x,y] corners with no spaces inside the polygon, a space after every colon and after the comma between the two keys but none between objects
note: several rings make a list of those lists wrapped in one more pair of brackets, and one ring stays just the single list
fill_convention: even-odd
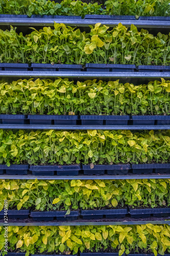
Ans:
[{"label": "second metal shelf edge from the top, bright silver-blue", "polygon": [[0,77],[170,78],[170,72],[0,71]]}]

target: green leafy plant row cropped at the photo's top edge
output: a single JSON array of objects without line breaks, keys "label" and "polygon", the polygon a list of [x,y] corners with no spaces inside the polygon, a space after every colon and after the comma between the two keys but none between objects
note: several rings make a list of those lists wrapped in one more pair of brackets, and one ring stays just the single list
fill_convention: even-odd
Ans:
[{"label": "green leafy plant row cropped at the photo's top edge", "polygon": [[139,16],[169,16],[169,0],[108,0],[104,8],[95,1],[86,4],[82,1],[64,0],[60,3],[50,0],[1,0],[0,14],[38,15],[81,15],[113,14]]}]

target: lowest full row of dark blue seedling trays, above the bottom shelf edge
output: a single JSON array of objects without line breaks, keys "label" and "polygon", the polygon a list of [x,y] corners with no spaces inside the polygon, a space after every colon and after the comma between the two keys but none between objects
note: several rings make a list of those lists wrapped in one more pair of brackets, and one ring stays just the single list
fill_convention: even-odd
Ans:
[{"label": "lowest full row of dark blue seedling trays, above the bottom shelf edge", "polygon": [[[149,218],[149,217],[170,217],[170,207],[162,208],[142,208],[133,209],[129,206],[119,209],[93,209],[93,210],[70,210],[70,214],[66,215],[66,210],[62,211],[34,211],[28,210],[8,210],[9,219],[28,219],[33,218],[34,221],[52,221],[57,219],[58,221],[74,221],[78,218],[84,220],[91,219],[114,219],[125,218],[130,216],[131,218]],[[4,219],[4,210],[0,211],[0,219]]]}]

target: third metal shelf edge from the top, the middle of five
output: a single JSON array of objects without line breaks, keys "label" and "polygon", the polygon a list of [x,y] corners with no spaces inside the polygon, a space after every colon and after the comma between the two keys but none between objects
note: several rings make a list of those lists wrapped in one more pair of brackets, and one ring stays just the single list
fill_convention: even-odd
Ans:
[{"label": "third metal shelf edge from the top, the middle of five", "polygon": [[25,130],[170,130],[170,125],[42,125],[42,124],[0,124],[0,129]]}]

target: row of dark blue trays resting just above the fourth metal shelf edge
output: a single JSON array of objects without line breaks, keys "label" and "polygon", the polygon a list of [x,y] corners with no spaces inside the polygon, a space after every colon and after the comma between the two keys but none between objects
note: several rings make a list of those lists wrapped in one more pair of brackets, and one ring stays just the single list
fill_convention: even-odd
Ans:
[{"label": "row of dark blue trays resting just above the fourth metal shelf edge", "polygon": [[113,164],[113,165],[29,165],[29,164],[5,164],[0,165],[0,174],[8,175],[27,175],[35,176],[76,176],[84,175],[125,175],[133,174],[164,174],[170,173],[170,164],[152,163],[152,164]]}]

